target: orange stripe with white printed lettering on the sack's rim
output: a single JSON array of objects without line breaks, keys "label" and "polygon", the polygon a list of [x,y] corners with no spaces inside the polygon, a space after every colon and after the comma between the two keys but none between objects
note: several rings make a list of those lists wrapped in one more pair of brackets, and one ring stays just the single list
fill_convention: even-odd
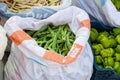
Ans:
[{"label": "orange stripe with white printed lettering on the sack's rim", "polygon": [[78,58],[78,56],[81,54],[82,49],[83,49],[83,46],[75,43],[73,50],[66,57],[66,61],[64,62],[64,64],[69,64],[74,62]]}]

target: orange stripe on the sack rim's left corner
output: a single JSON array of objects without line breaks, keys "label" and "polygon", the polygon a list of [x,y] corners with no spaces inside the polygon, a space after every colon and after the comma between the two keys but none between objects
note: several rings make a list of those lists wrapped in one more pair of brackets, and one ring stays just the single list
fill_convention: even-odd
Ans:
[{"label": "orange stripe on the sack rim's left corner", "polygon": [[30,40],[32,39],[29,35],[27,35],[24,31],[18,30],[15,31],[11,36],[10,39],[18,46],[21,44],[24,40]]}]

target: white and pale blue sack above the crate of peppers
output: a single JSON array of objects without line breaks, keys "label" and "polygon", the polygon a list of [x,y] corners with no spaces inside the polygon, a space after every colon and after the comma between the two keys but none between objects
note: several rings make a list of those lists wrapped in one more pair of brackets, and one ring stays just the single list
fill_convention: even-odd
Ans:
[{"label": "white and pale blue sack above the crate of peppers", "polygon": [[103,24],[120,27],[120,12],[111,0],[73,0],[73,3]]}]

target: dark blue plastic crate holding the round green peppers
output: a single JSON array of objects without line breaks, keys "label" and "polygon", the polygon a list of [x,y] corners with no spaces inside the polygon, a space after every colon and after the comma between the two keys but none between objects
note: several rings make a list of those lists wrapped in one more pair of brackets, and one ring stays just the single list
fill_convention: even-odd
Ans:
[{"label": "dark blue plastic crate holding the round green peppers", "polygon": [[[91,21],[91,27],[96,28],[98,31],[111,31],[114,27],[105,26],[98,21]],[[89,43],[91,45],[90,39]],[[93,51],[94,55],[94,51]],[[94,56],[94,72],[91,80],[120,80],[120,74],[116,73],[112,69],[98,68],[96,59]]]}]

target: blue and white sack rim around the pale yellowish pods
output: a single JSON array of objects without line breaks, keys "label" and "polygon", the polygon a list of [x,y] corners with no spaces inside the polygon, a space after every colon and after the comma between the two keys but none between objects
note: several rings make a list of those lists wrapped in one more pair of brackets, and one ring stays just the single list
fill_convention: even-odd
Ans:
[{"label": "blue and white sack rim around the pale yellowish pods", "polygon": [[69,7],[72,4],[72,0],[61,0],[59,6],[33,6],[31,9],[23,12],[14,13],[11,12],[5,3],[0,3],[0,13],[5,17],[21,16],[21,17],[34,17],[37,19],[44,19],[54,14],[56,11]]}]

